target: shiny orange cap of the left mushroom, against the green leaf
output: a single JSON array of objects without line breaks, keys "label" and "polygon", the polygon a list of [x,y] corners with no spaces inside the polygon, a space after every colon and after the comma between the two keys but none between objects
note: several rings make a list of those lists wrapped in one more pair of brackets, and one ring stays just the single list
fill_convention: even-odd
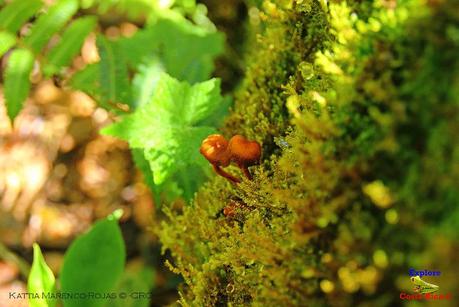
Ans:
[{"label": "shiny orange cap of the left mushroom, against the green leaf", "polygon": [[213,165],[228,166],[231,154],[228,141],[221,134],[211,134],[202,141],[199,152]]}]

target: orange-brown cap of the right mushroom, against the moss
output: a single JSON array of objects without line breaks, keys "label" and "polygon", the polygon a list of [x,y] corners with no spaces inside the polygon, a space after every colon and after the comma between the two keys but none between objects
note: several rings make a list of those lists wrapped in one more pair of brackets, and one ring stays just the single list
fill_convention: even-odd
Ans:
[{"label": "orange-brown cap of the right mushroom, against the moss", "polygon": [[232,160],[250,166],[257,164],[261,157],[261,146],[257,141],[249,141],[242,135],[235,135],[229,141]]}]

